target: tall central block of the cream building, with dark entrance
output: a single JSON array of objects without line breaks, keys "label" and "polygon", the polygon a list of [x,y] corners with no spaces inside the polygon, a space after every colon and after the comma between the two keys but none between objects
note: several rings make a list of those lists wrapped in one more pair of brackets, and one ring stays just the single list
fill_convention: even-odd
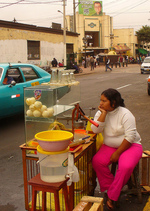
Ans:
[{"label": "tall central block of the cream building, with dark entrance", "polygon": [[[72,17],[66,16],[68,29],[72,27]],[[83,38],[87,38],[86,50],[87,52],[107,53],[111,46],[110,34],[113,31],[112,18],[103,13],[102,16],[84,16],[76,13],[76,32],[78,37],[78,53],[85,50]]]}]

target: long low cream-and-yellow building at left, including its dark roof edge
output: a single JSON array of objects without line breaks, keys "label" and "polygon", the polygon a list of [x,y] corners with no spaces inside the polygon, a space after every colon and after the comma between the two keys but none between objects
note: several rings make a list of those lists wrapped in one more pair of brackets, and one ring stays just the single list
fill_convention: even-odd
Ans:
[{"label": "long low cream-and-yellow building at left, including its dark roof edge", "polygon": [[[78,34],[67,31],[66,52],[77,52]],[[0,21],[0,62],[50,65],[64,58],[63,30]]]}]

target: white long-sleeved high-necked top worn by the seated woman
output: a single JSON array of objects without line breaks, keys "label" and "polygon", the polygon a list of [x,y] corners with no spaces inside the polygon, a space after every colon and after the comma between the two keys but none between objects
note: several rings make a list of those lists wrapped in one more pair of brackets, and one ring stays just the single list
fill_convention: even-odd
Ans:
[{"label": "white long-sleeved high-necked top worn by the seated woman", "polygon": [[118,148],[124,139],[130,143],[141,144],[141,137],[136,130],[135,117],[127,108],[118,107],[108,112],[105,122],[97,120],[100,114],[101,112],[97,111],[94,117],[94,121],[99,124],[99,127],[91,125],[91,129],[94,133],[103,134],[104,144]]}]

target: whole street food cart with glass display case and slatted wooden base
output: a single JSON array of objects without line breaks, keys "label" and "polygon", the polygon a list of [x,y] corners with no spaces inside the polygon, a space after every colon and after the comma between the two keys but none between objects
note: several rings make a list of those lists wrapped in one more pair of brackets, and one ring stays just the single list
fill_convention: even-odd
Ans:
[{"label": "whole street food cart with glass display case and slatted wooden base", "polygon": [[[63,129],[71,131],[75,139],[87,136],[85,125],[83,128],[76,129],[74,122],[75,110],[80,103],[80,83],[47,83],[38,86],[26,88],[24,90],[25,102],[25,134],[26,141],[20,146],[22,150],[23,161],[23,177],[24,177],[24,196],[25,209],[31,210],[32,192],[28,181],[40,173],[39,160],[37,155],[38,142],[35,139],[35,134],[54,129]],[[50,114],[40,114],[34,112],[32,104],[36,103],[36,110],[50,110]],[[40,102],[40,103],[39,103]],[[45,110],[44,110],[45,109]],[[41,112],[41,111],[40,111]],[[72,114],[73,113],[73,114]],[[81,113],[81,112],[80,112]],[[76,114],[77,118],[78,114]],[[71,121],[70,121],[71,120]],[[65,128],[64,128],[65,126]],[[72,183],[68,187],[70,206],[75,207],[82,196],[93,195],[96,187],[96,174],[92,168],[92,157],[96,152],[95,135],[90,134],[86,144],[81,144],[70,151],[74,156],[74,164],[78,168],[80,180]],[[55,210],[53,193],[47,193],[47,210]],[[64,197],[62,192],[59,192],[59,200],[61,210],[65,210]],[[42,196],[39,192],[37,195],[37,210],[42,209]]]}]

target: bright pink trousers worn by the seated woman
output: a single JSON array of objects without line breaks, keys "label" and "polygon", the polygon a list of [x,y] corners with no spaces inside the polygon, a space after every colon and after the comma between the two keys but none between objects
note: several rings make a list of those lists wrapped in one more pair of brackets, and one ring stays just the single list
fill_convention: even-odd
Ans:
[{"label": "bright pink trousers worn by the seated woman", "polygon": [[103,144],[92,160],[101,192],[108,190],[108,197],[114,201],[118,200],[121,189],[128,182],[143,152],[140,144],[132,144],[129,149],[125,150],[119,157],[118,169],[114,177],[109,165],[111,164],[110,157],[116,150],[116,148]]}]

